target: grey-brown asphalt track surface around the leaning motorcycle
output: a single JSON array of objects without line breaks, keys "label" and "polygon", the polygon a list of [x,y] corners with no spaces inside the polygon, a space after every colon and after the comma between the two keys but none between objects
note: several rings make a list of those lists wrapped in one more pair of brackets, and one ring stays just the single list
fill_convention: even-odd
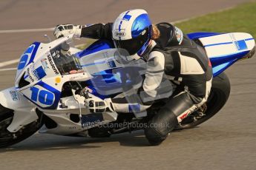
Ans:
[{"label": "grey-brown asphalt track surface around the leaning motorcycle", "polygon": [[[62,23],[113,21],[122,10],[145,8],[154,22],[177,21],[245,0],[0,1],[0,30],[53,27]],[[40,33],[0,34],[0,62],[19,58]],[[47,32],[52,35],[52,33]],[[0,150],[0,169],[252,169],[256,167],[256,56],[226,71],[232,92],[226,106],[200,127],[173,132],[148,146],[142,132],[105,139],[36,134]],[[16,64],[7,66],[16,67]],[[1,68],[7,68],[1,67]],[[0,72],[0,89],[15,72]]]}]

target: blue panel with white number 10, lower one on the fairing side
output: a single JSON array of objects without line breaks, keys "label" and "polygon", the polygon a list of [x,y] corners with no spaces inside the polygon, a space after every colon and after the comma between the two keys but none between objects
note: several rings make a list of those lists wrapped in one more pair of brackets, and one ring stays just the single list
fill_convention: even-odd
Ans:
[{"label": "blue panel with white number 10, lower one on the fairing side", "polygon": [[48,92],[44,89],[38,89],[35,86],[31,86],[30,90],[32,91],[31,100],[39,101],[42,104],[51,106],[54,102],[54,95],[52,92]]}]

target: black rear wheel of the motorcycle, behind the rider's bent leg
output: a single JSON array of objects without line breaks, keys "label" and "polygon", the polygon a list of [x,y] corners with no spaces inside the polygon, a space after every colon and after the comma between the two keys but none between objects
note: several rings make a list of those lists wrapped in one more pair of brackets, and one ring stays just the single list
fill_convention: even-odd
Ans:
[{"label": "black rear wheel of the motorcycle, behind the rider's bent leg", "polygon": [[188,115],[177,129],[191,129],[209,120],[225,105],[230,94],[229,77],[223,72],[213,78],[211,93],[207,102],[197,111]]}]

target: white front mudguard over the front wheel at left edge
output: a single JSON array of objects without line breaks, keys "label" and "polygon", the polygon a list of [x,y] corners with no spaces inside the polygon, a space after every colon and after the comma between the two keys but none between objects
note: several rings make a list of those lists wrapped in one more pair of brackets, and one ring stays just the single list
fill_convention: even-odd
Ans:
[{"label": "white front mudguard over the front wheel at left edge", "polygon": [[1,106],[9,109],[9,111],[13,110],[13,113],[10,112],[10,114],[13,114],[12,123],[7,127],[9,132],[17,132],[23,126],[38,119],[36,106],[30,103],[27,98],[24,98],[22,93],[17,91],[15,87],[4,89],[0,92],[0,103]]}]

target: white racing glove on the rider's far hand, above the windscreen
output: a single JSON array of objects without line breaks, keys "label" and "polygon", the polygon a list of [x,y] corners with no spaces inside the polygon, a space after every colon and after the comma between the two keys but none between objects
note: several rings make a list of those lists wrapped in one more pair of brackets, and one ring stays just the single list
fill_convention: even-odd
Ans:
[{"label": "white racing glove on the rider's far hand, above the windscreen", "polygon": [[74,38],[80,38],[81,31],[82,31],[81,25],[61,24],[55,27],[53,35],[56,38],[61,38],[61,37],[66,37],[70,34],[73,34]]}]

